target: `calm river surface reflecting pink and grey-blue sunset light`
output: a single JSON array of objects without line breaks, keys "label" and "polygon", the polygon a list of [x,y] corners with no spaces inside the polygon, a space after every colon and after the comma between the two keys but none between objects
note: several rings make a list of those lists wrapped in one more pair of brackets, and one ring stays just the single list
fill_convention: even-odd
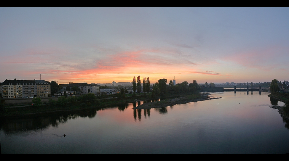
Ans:
[{"label": "calm river surface reflecting pink and grey-blue sunset light", "polygon": [[[161,109],[143,102],[81,112],[1,119],[2,154],[284,154],[289,131],[269,93]],[[66,137],[63,136],[66,134]]]}]

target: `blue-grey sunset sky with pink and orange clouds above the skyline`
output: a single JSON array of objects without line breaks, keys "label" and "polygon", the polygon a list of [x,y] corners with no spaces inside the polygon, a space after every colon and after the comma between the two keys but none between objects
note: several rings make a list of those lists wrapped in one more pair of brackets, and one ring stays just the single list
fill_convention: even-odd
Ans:
[{"label": "blue-grey sunset sky with pink and orange clouds above the skyline", "polygon": [[289,81],[288,7],[1,7],[0,82]]}]

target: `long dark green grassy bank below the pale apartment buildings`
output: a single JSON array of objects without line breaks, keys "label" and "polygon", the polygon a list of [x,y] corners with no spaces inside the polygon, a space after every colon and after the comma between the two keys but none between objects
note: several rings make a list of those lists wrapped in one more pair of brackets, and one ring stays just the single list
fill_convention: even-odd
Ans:
[{"label": "long dark green grassy bank below the pale apartment buildings", "polygon": [[[58,101],[50,100],[48,104],[38,104],[34,106],[26,107],[13,107],[7,108],[1,104],[0,116],[17,116],[17,115],[29,115],[29,114],[39,114],[39,113],[50,113],[50,112],[59,112],[59,111],[72,111],[72,110],[82,110],[88,108],[105,108],[118,104],[126,104],[135,101],[148,100],[148,99],[169,99],[169,98],[178,98],[178,97],[199,97],[200,94],[185,93],[182,95],[166,95],[163,97],[151,97],[151,94],[138,95],[131,97],[115,97],[109,99],[97,99],[95,96],[88,95],[83,97],[60,97]],[[191,98],[192,99],[192,98]]]}]

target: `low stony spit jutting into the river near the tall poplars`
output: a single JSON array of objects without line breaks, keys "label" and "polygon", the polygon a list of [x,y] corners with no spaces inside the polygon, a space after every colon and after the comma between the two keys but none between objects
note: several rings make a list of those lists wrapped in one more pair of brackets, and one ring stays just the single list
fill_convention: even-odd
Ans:
[{"label": "low stony spit jutting into the river near the tall poplars", "polygon": [[197,102],[197,101],[205,101],[209,99],[220,99],[221,97],[218,98],[212,98],[210,94],[203,93],[203,94],[192,94],[192,95],[187,95],[184,97],[179,97],[179,98],[174,98],[174,99],[165,99],[162,101],[157,101],[157,102],[148,102],[144,103],[138,107],[134,107],[133,109],[151,109],[151,108],[162,108],[162,107],[167,107],[167,106],[173,106],[175,104],[186,104],[189,102]]}]

